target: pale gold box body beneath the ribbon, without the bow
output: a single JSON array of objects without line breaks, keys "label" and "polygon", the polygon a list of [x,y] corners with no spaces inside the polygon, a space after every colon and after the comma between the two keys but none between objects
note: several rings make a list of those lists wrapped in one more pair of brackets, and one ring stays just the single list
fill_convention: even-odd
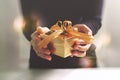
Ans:
[{"label": "pale gold box body beneath the ribbon, without the bow", "polygon": [[70,41],[71,40],[67,38],[65,39],[55,38],[53,40],[54,47],[56,48],[54,54],[63,58],[70,56],[72,46]]}]

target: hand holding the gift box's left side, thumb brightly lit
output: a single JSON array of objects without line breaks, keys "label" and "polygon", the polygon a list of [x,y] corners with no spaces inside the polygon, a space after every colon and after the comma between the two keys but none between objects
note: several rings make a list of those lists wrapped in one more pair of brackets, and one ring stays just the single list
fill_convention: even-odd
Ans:
[{"label": "hand holding the gift box's left side, thumb brightly lit", "polygon": [[41,30],[43,32],[48,32],[49,29],[47,27],[38,27],[35,32],[32,33],[31,35],[31,45],[33,46],[33,49],[35,50],[37,56],[46,59],[46,60],[51,60],[52,57],[50,56],[51,51],[47,48],[40,48],[38,43],[42,40],[42,37],[40,35]]}]

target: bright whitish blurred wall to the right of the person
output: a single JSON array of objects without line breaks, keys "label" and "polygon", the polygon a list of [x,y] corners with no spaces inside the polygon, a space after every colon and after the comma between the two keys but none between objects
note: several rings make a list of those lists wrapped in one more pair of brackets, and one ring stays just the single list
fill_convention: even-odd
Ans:
[{"label": "bright whitish blurred wall to the right of the person", "polygon": [[97,53],[99,65],[120,67],[120,0],[105,0],[103,26],[100,30],[101,50]]}]

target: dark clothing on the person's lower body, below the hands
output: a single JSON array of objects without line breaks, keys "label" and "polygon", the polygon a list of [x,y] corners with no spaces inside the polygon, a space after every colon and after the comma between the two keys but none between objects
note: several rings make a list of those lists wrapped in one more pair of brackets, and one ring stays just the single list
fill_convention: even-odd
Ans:
[{"label": "dark clothing on the person's lower body, below the hands", "polygon": [[[36,55],[33,49],[31,49],[30,55],[30,68],[82,68],[78,57],[61,58],[56,55],[51,55],[52,61],[42,59]],[[92,45],[87,51],[86,57],[92,61],[92,67],[97,67],[97,60],[95,55],[95,46]]]}]

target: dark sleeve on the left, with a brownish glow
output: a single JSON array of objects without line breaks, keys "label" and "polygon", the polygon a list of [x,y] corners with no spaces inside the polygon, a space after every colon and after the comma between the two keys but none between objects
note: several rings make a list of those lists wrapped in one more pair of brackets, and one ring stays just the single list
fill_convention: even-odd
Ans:
[{"label": "dark sleeve on the left, with a brownish glow", "polygon": [[23,27],[23,34],[27,40],[31,40],[31,34],[36,30],[37,19],[32,16],[32,2],[31,0],[20,0],[21,11],[25,20],[25,26]]}]

